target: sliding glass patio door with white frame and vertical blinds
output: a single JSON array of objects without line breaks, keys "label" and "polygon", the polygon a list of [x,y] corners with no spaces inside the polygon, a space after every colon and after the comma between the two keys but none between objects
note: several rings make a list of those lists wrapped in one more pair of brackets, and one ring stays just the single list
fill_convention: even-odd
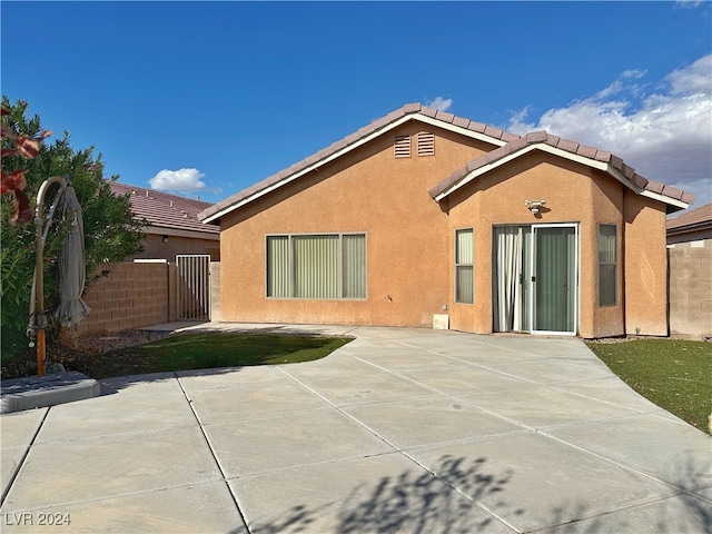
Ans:
[{"label": "sliding glass patio door with white frame and vertical blinds", "polygon": [[575,334],[577,226],[500,226],[493,236],[494,330]]}]

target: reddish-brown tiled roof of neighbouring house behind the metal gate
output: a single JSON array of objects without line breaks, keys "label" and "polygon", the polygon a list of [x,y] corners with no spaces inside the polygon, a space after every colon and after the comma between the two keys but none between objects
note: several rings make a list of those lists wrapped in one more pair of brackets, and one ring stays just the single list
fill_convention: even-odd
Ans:
[{"label": "reddish-brown tiled roof of neighbouring house behind the metal gate", "polygon": [[209,208],[210,202],[169,195],[117,181],[109,182],[115,195],[130,195],[131,211],[139,220],[148,221],[146,234],[218,239],[219,228],[204,225],[198,212]]}]

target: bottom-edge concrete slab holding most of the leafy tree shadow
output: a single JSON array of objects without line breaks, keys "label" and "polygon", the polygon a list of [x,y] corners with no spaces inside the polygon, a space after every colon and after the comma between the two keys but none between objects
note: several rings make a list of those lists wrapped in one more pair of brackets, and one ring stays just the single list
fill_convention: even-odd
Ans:
[{"label": "bottom-edge concrete slab holding most of the leafy tree shadow", "polygon": [[512,533],[399,454],[230,481],[250,532]]}]

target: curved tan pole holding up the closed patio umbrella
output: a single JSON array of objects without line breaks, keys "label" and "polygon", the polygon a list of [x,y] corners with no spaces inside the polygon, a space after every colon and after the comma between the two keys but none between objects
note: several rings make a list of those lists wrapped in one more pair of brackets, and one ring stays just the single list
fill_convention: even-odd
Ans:
[{"label": "curved tan pole holding up the closed patio umbrella", "polygon": [[[49,209],[47,217],[47,226],[42,231],[42,205],[44,204],[44,195],[52,184],[59,184],[59,190],[55,195],[55,200]],[[47,358],[46,328],[47,315],[44,315],[44,241],[49,230],[50,222],[55,216],[55,210],[59,204],[59,199],[65,194],[65,189],[69,185],[69,180],[65,177],[53,176],[48,178],[40,186],[37,194],[37,207],[34,208],[34,228],[36,228],[36,249],[34,249],[34,278],[32,280],[32,296],[30,298],[30,324],[27,328],[30,338],[37,338],[37,375],[44,376],[44,360]],[[30,347],[33,345],[30,342]]]}]

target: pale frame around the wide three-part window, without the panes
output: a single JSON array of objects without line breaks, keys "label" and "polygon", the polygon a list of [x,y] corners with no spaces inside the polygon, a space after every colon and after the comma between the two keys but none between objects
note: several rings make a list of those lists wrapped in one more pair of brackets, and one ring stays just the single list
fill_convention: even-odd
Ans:
[{"label": "pale frame around the wide three-part window, without the panes", "polygon": [[[338,296],[336,297],[296,297],[296,264],[294,258],[294,238],[304,238],[304,237],[337,237],[337,288]],[[364,296],[363,297],[344,297],[345,293],[345,265],[344,265],[344,236],[362,236],[364,238]],[[270,238],[286,238],[287,239],[287,276],[288,280],[287,293],[288,296],[270,296],[270,285],[269,285],[269,239]],[[314,231],[314,233],[296,233],[296,234],[266,234],[265,235],[265,298],[268,300],[366,300],[368,298],[368,236],[365,231],[339,231],[339,233],[327,233],[327,231]]]}]

